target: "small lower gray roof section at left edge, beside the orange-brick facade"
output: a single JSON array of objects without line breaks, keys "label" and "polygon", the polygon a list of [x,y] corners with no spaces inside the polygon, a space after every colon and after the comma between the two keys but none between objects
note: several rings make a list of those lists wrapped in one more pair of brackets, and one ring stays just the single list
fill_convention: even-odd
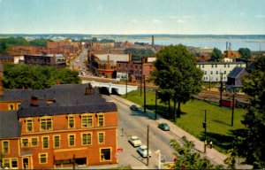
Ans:
[{"label": "small lower gray roof section at left edge, beside the orange-brick facade", "polygon": [[0,138],[14,138],[21,134],[21,125],[15,111],[0,112]]}]

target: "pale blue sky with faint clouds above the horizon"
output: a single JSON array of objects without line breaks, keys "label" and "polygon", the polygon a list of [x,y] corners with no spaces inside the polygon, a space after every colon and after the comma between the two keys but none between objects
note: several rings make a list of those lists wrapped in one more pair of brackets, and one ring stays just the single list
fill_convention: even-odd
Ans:
[{"label": "pale blue sky with faint clouds above the horizon", "polygon": [[265,0],[0,0],[0,34],[265,35]]}]

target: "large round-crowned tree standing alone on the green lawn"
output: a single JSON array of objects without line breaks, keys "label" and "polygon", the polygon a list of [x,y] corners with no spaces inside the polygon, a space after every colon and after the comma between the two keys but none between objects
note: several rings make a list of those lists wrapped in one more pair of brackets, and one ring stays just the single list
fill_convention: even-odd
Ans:
[{"label": "large round-crowned tree standing alone on the green lawn", "polygon": [[155,68],[152,80],[166,94],[170,92],[168,98],[174,104],[174,119],[176,114],[179,118],[180,104],[201,91],[202,72],[196,67],[195,57],[182,44],[170,45],[156,54]]}]

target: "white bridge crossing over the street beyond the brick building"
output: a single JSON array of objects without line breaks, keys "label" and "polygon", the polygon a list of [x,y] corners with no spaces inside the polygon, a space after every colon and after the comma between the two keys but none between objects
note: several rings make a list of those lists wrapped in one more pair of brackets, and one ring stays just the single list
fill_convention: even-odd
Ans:
[{"label": "white bridge crossing over the street beyond the brick building", "polygon": [[[126,85],[124,84],[114,84],[112,82],[97,82],[97,81],[82,81],[82,84],[91,83],[92,87],[105,88],[110,94],[125,95]],[[127,93],[136,90],[137,86],[127,85]]]}]

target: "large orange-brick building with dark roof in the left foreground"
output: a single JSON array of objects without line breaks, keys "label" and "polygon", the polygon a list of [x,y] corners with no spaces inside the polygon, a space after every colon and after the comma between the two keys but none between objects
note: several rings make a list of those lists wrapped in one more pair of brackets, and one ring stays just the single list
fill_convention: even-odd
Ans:
[{"label": "large orange-brick building with dark roof in the left foreground", "polygon": [[117,106],[91,85],[4,91],[0,100],[21,102],[17,111],[0,112],[4,167],[44,169],[117,163]]}]

